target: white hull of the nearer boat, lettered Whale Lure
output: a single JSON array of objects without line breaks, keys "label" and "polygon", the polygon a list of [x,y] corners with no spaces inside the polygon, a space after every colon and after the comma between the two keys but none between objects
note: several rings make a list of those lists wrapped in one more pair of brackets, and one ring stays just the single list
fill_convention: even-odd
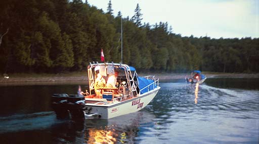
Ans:
[{"label": "white hull of the nearer boat, lettered Whale Lure", "polygon": [[[111,104],[85,104],[85,118],[92,118],[92,116],[88,117],[88,113],[95,113],[95,117],[100,119],[110,119],[113,117],[137,112],[147,106],[153,98],[156,96],[160,87],[149,91],[148,93],[144,93],[138,97],[128,99],[121,102],[114,102]],[[91,111],[89,111],[91,109]]]}]

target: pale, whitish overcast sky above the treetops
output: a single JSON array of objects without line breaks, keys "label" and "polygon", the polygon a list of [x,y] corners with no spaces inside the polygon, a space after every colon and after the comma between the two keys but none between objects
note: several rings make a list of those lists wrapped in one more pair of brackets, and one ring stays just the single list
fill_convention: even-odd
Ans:
[{"label": "pale, whitish overcast sky above the treetops", "polygon": [[[88,0],[107,12],[109,0]],[[111,0],[113,15],[133,17],[139,4],[142,24],[167,22],[182,36],[259,38],[259,0]]]}]

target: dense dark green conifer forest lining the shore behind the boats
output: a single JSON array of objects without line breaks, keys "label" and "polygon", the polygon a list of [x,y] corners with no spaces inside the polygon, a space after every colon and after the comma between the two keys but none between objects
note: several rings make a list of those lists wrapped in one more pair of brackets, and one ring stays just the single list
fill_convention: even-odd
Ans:
[{"label": "dense dark green conifer forest lining the shore behind the boats", "polygon": [[[259,39],[182,37],[167,23],[142,24],[80,0],[9,0],[0,6],[0,73],[61,73],[91,61],[121,61],[141,70],[259,72]],[[134,10],[133,10],[134,11]]]}]

